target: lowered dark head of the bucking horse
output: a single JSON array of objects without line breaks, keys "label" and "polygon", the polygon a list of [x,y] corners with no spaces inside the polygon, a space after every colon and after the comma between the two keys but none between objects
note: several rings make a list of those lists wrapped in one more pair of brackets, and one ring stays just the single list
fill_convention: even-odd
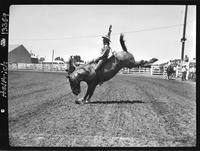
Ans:
[{"label": "lowered dark head of the bucking horse", "polygon": [[79,73],[75,72],[70,75],[67,75],[67,78],[69,79],[70,87],[72,89],[72,92],[75,95],[78,95],[81,90],[80,90],[80,79],[79,79]]}]

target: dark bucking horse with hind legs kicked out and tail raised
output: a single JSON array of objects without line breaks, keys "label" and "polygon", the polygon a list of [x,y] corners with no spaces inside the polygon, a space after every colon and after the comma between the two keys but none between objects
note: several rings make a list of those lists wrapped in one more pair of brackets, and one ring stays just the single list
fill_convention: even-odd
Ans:
[{"label": "dark bucking horse with hind legs kicked out and tail raised", "polygon": [[[77,99],[75,101],[76,103],[89,103],[96,86],[100,82],[108,81],[113,78],[122,68],[145,67],[158,60],[152,58],[149,61],[135,61],[133,55],[128,52],[126,48],[123,34],[120,35],[120,44],[123,51],[113,53],[113,55],[102,65],[99,72],[95,72],[95,62],[90,62],[78,67],[69,67],[69,70],[66,70],[66,77],[69,79],[70,87],[74,95],[78,95],[81,92],[81,81],[86,82],[88,86],[85,96]],[[100,76],[101,78],[99,78]],[[100,79],[103,79],[103,81],[100,81]]]}]

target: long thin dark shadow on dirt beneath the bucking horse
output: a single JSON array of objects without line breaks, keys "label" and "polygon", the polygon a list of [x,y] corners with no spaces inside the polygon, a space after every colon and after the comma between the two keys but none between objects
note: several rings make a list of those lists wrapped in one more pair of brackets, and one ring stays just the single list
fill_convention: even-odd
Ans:
[{"label": "long thin dark shadow on dirt beneath the bucking horse", "polygon": [[142,100],[113,100],[113,101],[94,101],[88,102],[89,104],[134,104],[134,103],[147,103]]}]

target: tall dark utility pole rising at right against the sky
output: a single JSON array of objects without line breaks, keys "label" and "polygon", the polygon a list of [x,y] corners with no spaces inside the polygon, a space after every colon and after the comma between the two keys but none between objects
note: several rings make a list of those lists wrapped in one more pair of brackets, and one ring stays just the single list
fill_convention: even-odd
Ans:
[{"label": "tall dark utility pole rising at right against the sky", "polygon": [[184,49],[185,49],[185,33],[186,33],[186,22],[187,22],[187,10],[188,10],[188,5],[185,6],[185,17],[184,17],[184,24],[183,24],[183,38],[181,38],[182,42],[182,51],[181,51],[181,61],[183,62],[184,60]]}]

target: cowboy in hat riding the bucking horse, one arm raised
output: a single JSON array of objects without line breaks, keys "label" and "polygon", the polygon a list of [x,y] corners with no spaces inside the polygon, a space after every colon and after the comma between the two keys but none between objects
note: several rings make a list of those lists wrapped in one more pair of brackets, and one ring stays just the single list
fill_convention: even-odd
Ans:
[{"label": "cowboy in hat riding the bucking horse, one arm raised", "polygon": [[[109,27],[109,31],[108,34],[105,36],[102,36],[103,38],[103,48],[101,49],[101,56],[98,57],[97,59],[94,60],[94,62],[98,62],[96,67],[95,67],[95,71],[98,72],[99,69],[101,68],[101,66],[106,62],[106,60],[108,59],[109,53],[110,53],[110,34],[111,34],[111,28],[112,25],[110,25]],[[99,76],[102,77],[102,76]],[[100,79],[100,85],[103,83],[102,82],[103,79]]]}]

